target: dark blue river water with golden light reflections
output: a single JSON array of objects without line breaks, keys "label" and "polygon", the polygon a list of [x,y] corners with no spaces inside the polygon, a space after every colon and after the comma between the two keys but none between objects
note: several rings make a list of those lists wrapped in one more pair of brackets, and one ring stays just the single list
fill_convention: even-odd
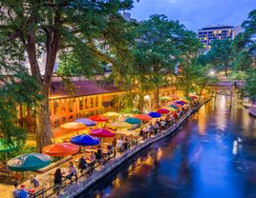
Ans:
[{"label": "dark blue river water with golden light reflections", "polygon": [[256,119],[218,96],[79,197],[256,198]]}]

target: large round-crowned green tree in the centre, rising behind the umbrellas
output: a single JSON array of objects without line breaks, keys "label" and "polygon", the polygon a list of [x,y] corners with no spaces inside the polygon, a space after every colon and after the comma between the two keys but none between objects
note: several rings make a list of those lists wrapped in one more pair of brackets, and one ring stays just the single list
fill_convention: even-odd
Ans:
[{"label": "large round-crowned green tree in the centre, rising behind the umbrellas", "polygon": [[195,33],[165,15],[152,15],[139,23],[135,41],[132,50],[137,86],[142,92],[155,89],[154,109],[158,109],[160,86],[169,84],[175,66],[189,53],[188,46],[199,41]]}]

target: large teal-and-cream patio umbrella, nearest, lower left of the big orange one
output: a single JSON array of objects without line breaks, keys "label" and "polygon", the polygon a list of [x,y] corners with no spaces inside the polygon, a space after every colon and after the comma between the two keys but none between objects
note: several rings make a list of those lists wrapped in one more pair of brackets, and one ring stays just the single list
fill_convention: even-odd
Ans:
[{"label": "large teal-and-cream patio umbrella, nearest, lower left of the big orange one", "polygon": [[50,165],[51,157],[41,153],[19,155],[8,161],[7,166],[12,171],[32,171]]}]

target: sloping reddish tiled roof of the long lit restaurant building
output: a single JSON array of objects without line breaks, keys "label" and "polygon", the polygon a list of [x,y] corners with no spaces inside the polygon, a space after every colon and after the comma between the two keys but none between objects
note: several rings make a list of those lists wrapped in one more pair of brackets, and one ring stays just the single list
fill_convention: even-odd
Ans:
[{"label": "sloping reddish tiled roof of the long lit restaurant building", "polygon": [[53,81],[50,89],[50,98],[77,97],[109,92],[115,91],[108,89],[108,87],[105,88],[92,80],[72,81],[69,86],[61,81]]}]

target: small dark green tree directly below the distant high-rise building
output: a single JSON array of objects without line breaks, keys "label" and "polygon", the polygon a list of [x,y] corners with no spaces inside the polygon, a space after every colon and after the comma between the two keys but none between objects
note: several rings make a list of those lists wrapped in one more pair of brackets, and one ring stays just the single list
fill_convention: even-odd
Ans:
[{"label": "small dark green tree directly below the distant high-rise building", "polygon": [[228,69],[231,69],[233,62],[231,43],[228,39],[215,40],[207,53],[210,63],[216,69],[224,70],[226,80],[228,78]]}]

